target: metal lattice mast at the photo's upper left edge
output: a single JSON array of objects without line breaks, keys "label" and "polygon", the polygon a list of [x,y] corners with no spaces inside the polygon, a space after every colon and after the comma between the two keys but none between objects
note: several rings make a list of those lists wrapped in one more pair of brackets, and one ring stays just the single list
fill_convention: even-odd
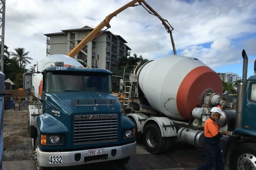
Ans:
[{"label": "metal lattice mast at the photo's upper left edge", "polygon": [[4,72],[4,22],[5,22],[5,0],[0,0],[0,71]]}]

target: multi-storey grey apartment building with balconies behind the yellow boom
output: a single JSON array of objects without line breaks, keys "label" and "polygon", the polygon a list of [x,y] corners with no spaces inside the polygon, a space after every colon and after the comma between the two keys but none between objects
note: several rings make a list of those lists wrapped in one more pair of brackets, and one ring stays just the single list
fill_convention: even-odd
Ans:
[{"label": "multi-storey grey apartment building with balconies behind the yellow boom", "polygon": [[[47,33],[46,56],[53,54],[67,55],[81,40],[94,28],[84,26],[77,29],[61,30],[62,32]],[[105,31],[93,41],[89,42],[76,56],[76,60],[82,60],[89,67],[94,67],[95,59],[99,56],[98,67],[106,68],[114,72],[117,69],[120,58],[130,56],[131,48],[127,41],[120,35],[114,35]]]}]

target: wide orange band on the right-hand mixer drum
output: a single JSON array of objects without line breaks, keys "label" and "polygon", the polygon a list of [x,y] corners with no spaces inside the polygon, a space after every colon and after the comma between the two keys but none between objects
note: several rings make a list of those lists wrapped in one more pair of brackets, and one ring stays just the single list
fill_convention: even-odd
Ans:
[{"label": "wide orange band on the right-hand mixer drum", "polygon": [[193,108],[202,106],[203,94],[208,90],[222,95],[221,78],[211,68],[196,67],[185,76],[177,92],[177,109],[182,118],[192,119]]}]

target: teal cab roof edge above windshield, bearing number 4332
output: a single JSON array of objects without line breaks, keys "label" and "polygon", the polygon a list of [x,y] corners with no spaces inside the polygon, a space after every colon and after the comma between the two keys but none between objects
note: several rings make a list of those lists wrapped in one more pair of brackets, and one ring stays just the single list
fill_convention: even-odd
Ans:
[{"label": "teal cab roof edge above windshield, bearing number 4332", "polygon": [[56,71],[57,67],[66,67],[67,70],[58,70],[58,71],[84,71],[84,72],[102,72],[102,73],[108,73],[112,74],[111,71],[103,69],[103,68],[86,68],[86,67],[71,67],[71,66],[52,66],[47,67],[45,70],[47,71]]}]

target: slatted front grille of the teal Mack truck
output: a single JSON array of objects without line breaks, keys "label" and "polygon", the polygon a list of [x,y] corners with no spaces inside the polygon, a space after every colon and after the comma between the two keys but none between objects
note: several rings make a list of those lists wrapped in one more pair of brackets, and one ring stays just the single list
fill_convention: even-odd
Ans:
[{"label": "slatted front grille of the teal Mack truck", "polygon": [[74,144],[117,141],[117,114],[76,115]]}]

